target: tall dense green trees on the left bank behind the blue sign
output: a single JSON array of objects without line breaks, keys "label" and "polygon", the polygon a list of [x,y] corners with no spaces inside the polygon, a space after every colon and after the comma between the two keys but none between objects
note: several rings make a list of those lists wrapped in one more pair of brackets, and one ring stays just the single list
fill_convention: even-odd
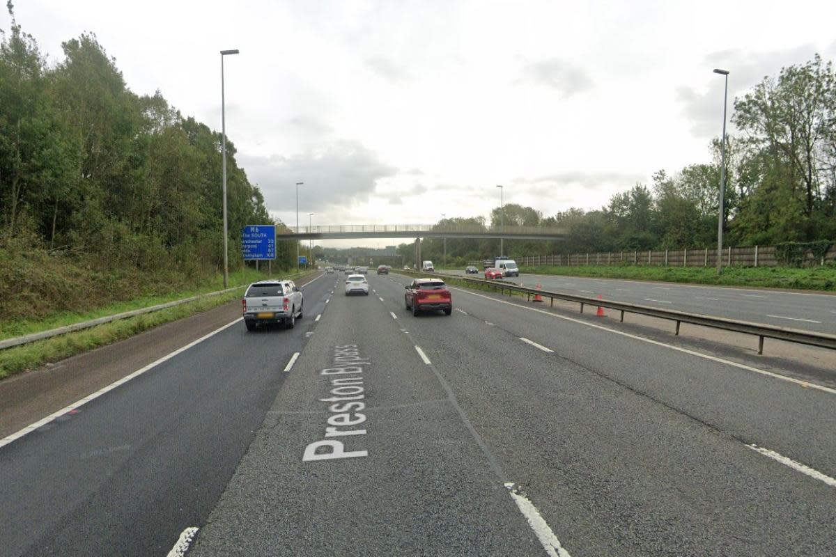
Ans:
[{"label": "tall dense green trees on the left bank behind the blue sign", "polygon": [[[157,91],[127,87],[93,33],[50,64],[16,22],[0,40],[0,242],[91,265],[222,266],[221,134]],[[244,225],[273,224],[227,138],[230,257]],[[280,224],[280,223],[278,223]],[[286,242],[289,243],[289,242]],[[2,246],[0,246],[2,247]],[[295,246],[278,246],[291,266]]]}]

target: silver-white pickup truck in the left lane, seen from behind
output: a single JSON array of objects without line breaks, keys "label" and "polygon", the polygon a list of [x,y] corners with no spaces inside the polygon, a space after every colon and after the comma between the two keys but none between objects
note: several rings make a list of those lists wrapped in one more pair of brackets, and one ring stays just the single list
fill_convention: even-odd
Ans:
[{"label": "silver-white pickup truck in the left lane, seen from behind", "polygon": [[302,290],[293,281],[253,282],[241,302],[247,331],[268,323],[292,329],[303,314]]}]

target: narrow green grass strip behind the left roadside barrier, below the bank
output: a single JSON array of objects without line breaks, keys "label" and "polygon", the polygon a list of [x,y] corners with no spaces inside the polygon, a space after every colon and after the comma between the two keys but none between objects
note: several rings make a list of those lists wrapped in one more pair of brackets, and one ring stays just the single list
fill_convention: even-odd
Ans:
[{"label": "narrow green grass strip behind the left roadside barrier, below the bank", "polygon": [[[273,276],[276,276],[274,273]],[[229,274],[229,286],[247,286],[251,282],[267,278],[267,273],[254,269],[242,269]],[[43,319],[0,319],[0,340],[4,338],[22,337],[33,332],[48,331],[58,327],[65,327],[74,323],[85,322],[98,317],[110,316],[123,311],[138,310],[143,307],[155,306],[166,301],[182,300],[198,294],[206,294],[223,290],[223,275],[217,274],[200,286],[180,288],[166,294],[156,296],[140,296],[128,301],[114,301],[89,311],[58,311]]]}]

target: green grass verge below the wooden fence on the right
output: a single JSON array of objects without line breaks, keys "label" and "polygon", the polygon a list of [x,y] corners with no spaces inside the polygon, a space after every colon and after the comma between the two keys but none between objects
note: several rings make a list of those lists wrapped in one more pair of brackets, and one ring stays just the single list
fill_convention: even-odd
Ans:
[{"label": "green grass verge below the wooden fence on the right", "polygon": [[803,269],[732,266],[723,267],[723,272],[719,276],[713,267],[524,266],[520,267],[520,272],[540,275],[594,276],[636,281],[836,291],[836,266]]}]

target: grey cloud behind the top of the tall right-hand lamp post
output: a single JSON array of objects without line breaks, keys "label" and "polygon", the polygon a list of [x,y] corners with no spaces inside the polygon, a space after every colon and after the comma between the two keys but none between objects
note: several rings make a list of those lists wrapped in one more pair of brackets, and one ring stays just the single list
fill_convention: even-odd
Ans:
[{"label": "grey cloud behind the top of the tall right-hand lamp post", "polygon": [[[836,43],[834,43],[836,44]],[[691,134],[696,137],[719,137],[722,133],[723,78],[712,74],[713,68],[729,72],[728,121],[731,122],[734,99],[768,75],[777,75],[781,68],[804,63],[813,58],[816,47],[812,43],[788,50],[750,53],[739,48],[710,53],[705,58],[706,76],[711,78],[708,89],[701,91],[681,86],[676,89],[682,114],[691,121]],[[706,77],[706,78],[707,78]]]}]

